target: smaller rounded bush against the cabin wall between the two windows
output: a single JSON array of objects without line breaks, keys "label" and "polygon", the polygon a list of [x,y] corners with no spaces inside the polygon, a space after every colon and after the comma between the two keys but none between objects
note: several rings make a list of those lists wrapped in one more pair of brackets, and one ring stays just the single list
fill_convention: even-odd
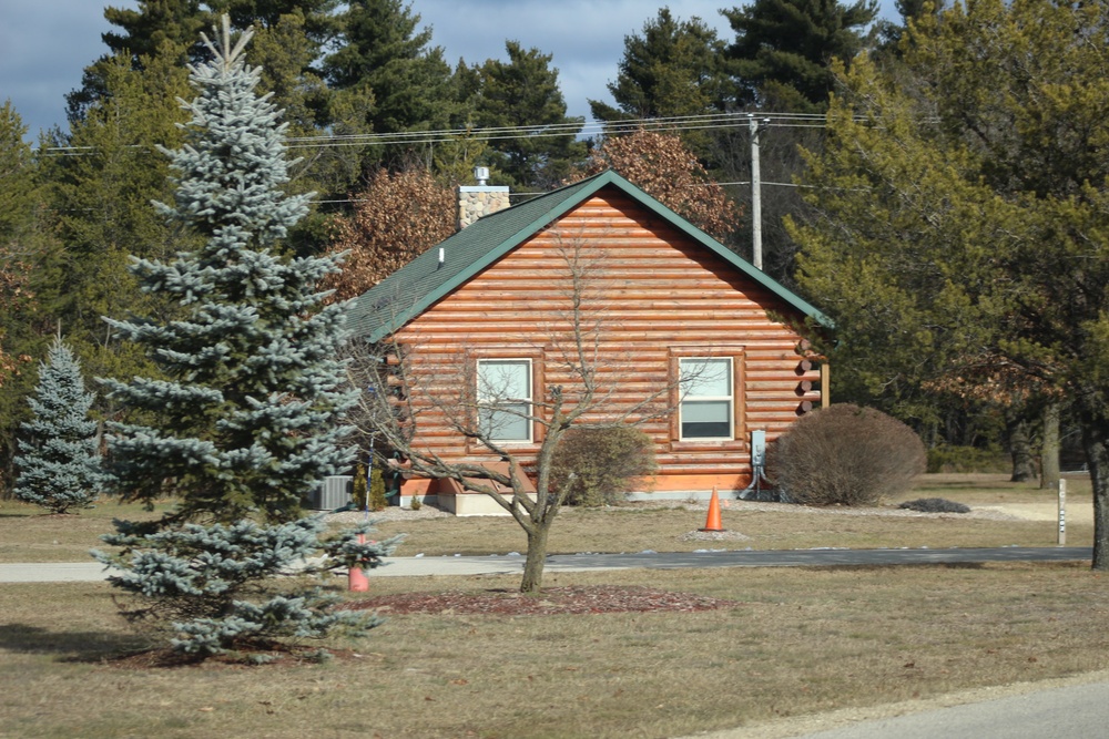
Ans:
[{"label": "smaller rounded bush against the cabin wall between the two windows", "polygon": [[638,480],[654,474],[654,442],[630,425],[574,428],[559,440],[551,487],[570,486],[567,503],[607,505],[623,500]]}]

